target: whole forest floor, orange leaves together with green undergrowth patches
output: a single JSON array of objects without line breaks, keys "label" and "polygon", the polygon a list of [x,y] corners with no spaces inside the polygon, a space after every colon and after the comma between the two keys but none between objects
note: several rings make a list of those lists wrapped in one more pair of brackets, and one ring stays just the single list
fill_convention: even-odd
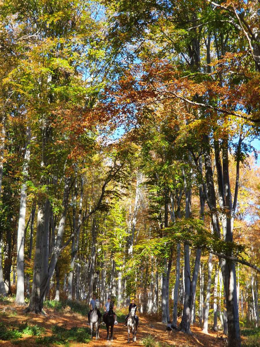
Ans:
[{"label": "whole forest floor, orange leaves together with green undergrowth patches", "polygon": [[137,342],[132,342],[130,339],[130,344],[128,344],[128,332],[127,328],[123,327],[123,317],[120,318],[121,322],[114,327],[113,341],[106,341],[104,327],[99,330],[99,340],[96,340],[95,337],[89,340],[86,315],[71,312],[69,306],[61,311],[47,308],[45,312],[46,316],[24,314],[23,307],[0,301],[0,346],[225,346],[225,336],[220,332],[215,333],[209,329],[209,334],[205,335],[196,324],[191,327],[192,336],[187,336],[177,331],[166,331],[165,325],[147,316],[140,316]]}]

